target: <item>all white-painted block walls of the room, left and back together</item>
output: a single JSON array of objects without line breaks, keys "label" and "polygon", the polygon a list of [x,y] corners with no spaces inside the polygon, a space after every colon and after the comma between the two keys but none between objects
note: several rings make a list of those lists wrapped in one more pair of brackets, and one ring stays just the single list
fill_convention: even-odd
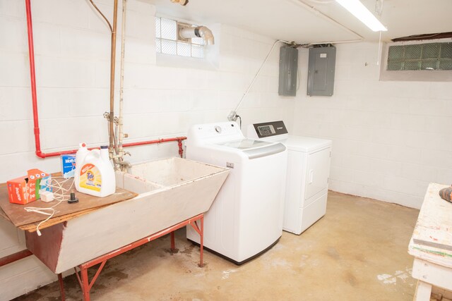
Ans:
[{"label": "all white-painted block walls of the room, left and back together", "polygon": [[[96,3],[112,16],[111,1]],[[106,25],[88,1],[32,1],[32,13],[43,152],[73,149],[82,140],[106,143]],[[156,56],[154,14],[155,7],[129,0],[127,142],[185,135],[194,123],[225,121],[273,44],[234,27],[203,24],[213,30],[215,47],[205,63],[182,63]],[[29,168],[59,171],[59,159],[34,154],[23,1],[0,0],[0,37],[0,182]],[[332,190],[420,207],[429,182],[452,182],[451,83],[379,82],[377,45],[343,44],[334,96],[307,97],[307,50],[299,53],[297,97],[278,97],[276,47],[238,111],[244,128],[282,119],[292,134],[332,139]],[[174,143],[127,150],[131,161],[177,156]],[[24,248],[23,233],[6,221],[0,221],[0,242],[1,257]],[[35,257],[1,267],[0,300],[54,280]]]}]

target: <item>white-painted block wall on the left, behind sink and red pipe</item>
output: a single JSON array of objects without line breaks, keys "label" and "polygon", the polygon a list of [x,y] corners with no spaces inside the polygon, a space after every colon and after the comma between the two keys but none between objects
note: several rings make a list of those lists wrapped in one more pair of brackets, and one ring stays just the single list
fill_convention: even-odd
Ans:
[{"label": "white-painted block wall on the left, behind sink and red pipe", "polygon": [[[112,1],[96,3],[111,19]],[[183,63],[181,68],[180,61],[155,54],[155,7],[135,0],[128,3],[126,142],[186,135],[192,124],[227,121],[273,40],[203,24],[215,34],[208,62]],[[32,19],[42,151],[74,149],[81,141],[93,146],[107,143],[107,122],[102,118],[109,111],[107,26],[88,1],[32,1]],[[24,1],[0,0],[0,37],[0,182],[22,176],[29,168],[59,171],[58,158],[35,156]],[[292,123],[294,99],[278,97],[278,57],[277,47],[238,112],[246,123],[277,119]],[[117,61],[119,70],[119,55]],[[168,143],[127,150],[130,161],[143,161],[177,156],[178,148]],[[23,248],[23,233],[0,221],[0,257]],[[54,280],[35,257],[28,257],[0,268],[0,300]]]}]

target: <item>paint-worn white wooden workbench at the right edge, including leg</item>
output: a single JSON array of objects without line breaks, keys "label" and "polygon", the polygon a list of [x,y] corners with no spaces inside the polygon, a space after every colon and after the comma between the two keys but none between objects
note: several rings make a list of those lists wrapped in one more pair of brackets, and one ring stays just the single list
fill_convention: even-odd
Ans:
[{"label": "paint-worn white wooden workbench at the right edge, including leg", "polygon": [[452,203],[439,197],[446,187],[430,183],[408,247],[417,301],[430,300],[432,286],[452,290]]}]

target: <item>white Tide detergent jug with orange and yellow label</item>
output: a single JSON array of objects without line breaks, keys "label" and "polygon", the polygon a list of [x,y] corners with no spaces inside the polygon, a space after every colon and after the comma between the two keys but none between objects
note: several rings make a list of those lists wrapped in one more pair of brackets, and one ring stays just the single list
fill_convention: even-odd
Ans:
[{"label": "white Tide detergent jug with orange and yellow label", "polygon": [[102,146],[91,151],[86,149],[85,152],[83,145],[82,143],[76,154],[76,189],[95,197],[112,195],[116,190],[116,178],[109,160],[108,147]]}]

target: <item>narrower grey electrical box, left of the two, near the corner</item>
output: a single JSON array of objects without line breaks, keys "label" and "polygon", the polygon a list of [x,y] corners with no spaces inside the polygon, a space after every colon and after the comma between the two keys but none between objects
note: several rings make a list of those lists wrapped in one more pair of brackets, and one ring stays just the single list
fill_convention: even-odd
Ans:
[{"label": "narrower grey electrical box, left of the two, near the corner", "polygon": [[297,70],[298,50],[293,47],[281,47],[279,95],[295,96],[297,94]]}]

